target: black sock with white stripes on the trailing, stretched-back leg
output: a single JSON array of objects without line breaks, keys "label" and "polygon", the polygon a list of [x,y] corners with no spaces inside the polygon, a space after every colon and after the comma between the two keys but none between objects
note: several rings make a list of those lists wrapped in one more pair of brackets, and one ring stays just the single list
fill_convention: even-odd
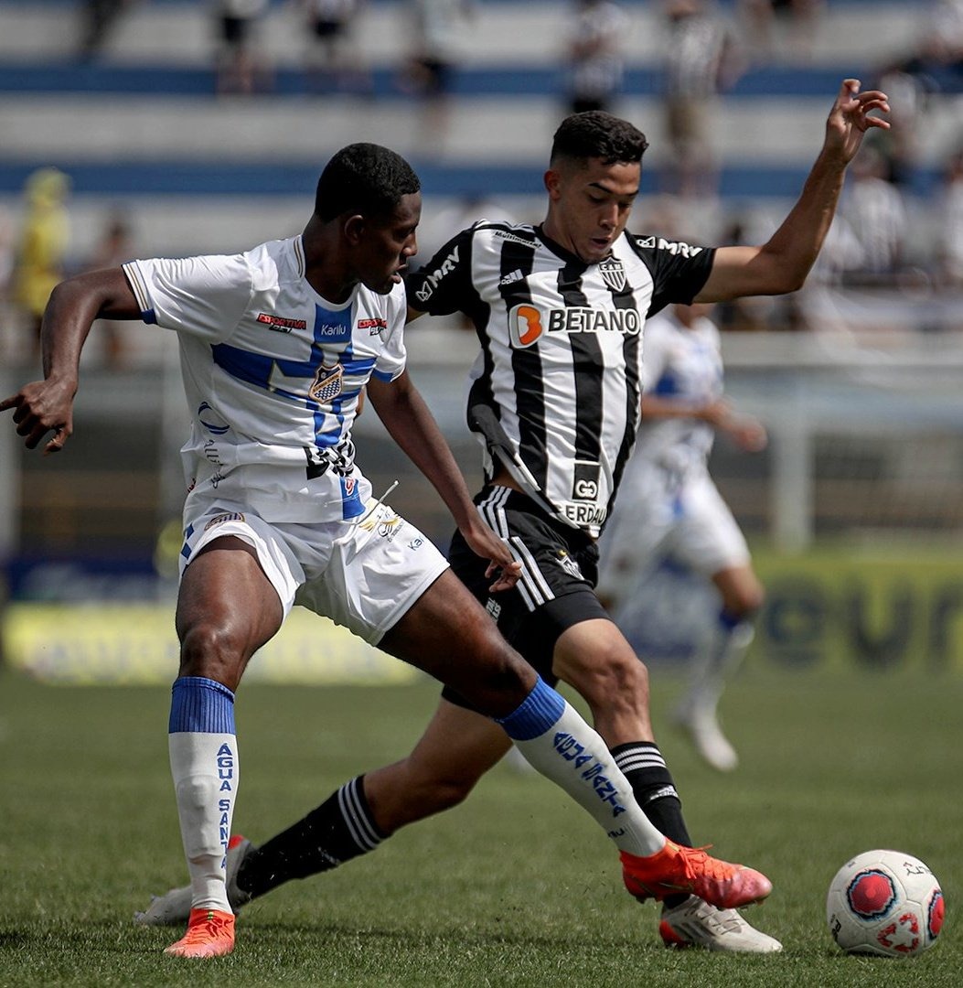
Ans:
[{"label": "black sock with white stripes on the trailing, stretched-back leg", "polygon": [[384,840],[371,819],[363,776],[346,782],[303,820],[248,853],[237,887],[252,898],[373,851]]}]

